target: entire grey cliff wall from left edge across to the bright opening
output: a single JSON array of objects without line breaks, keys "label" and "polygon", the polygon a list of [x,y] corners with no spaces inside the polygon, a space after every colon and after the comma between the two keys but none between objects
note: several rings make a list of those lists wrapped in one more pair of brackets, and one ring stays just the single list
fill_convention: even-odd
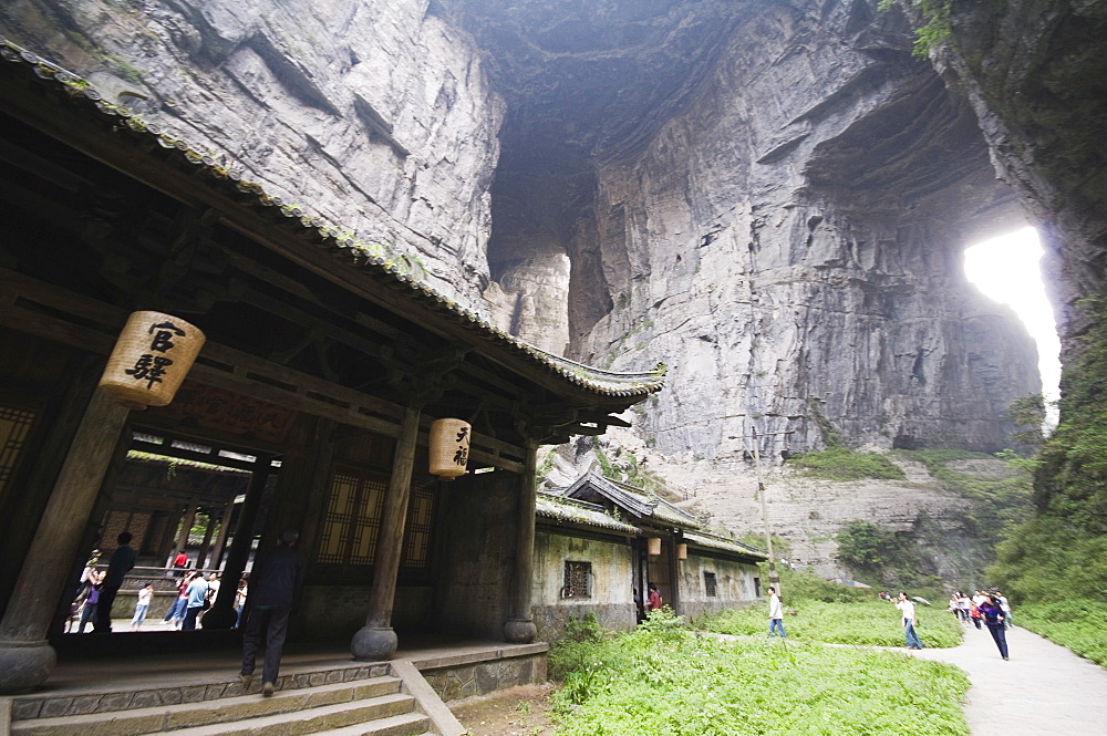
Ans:
[{"label": "entire grey cliff wall from left edge across to the bright opening", "polygon": [[961,272],[1018,201],[875,2],[13,0],[0,32],[547,350],[664,361],[666,454],[999,449],[1039,388]]}]

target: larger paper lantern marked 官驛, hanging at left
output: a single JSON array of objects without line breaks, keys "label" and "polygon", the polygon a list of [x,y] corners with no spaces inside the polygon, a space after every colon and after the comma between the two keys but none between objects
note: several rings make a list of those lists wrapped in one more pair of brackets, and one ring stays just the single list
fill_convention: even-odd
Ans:
[{"label": "larger paper lantern marked \u5b98\u9a5b, hanging at left", "polygon": [[198,328],[172,314],[132,312],[107,359],[100,387],[132,408],[165,406],[205,340]]}]

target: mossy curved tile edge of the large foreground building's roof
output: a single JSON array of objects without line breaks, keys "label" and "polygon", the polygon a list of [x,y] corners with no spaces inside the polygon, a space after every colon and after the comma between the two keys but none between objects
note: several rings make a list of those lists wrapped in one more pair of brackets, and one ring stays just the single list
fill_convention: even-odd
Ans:
[{"label": "mossy curved tile edge of the large foreground building's roof", "polygon": [[64,91],[73,102],[84,104],[90,112],[99,112],[104,121],[111,123],[112,131],[121,135],[145,138],[161,146],[170,157],[177,159],[176,163],[193,167],[198,174],[206,175],[208,186],[246,205],[271,212],[276,219],[315,248],[351,263],[368,276],[401,291],[413,301],[424,303],[482,338],[526,355],[537,365],[575,385],[597,394],[622,397],[645,396],[661,391],[664,385],[666,367],[663,363],[659,363],[652,371],[614,373],[554,355],[510,335],[476,311],[453,301],[408,273],[408,269],[404,267],[404,263],[410,262],[406,256],[391,253],[381,243],[360,240],[349,230],[308,214],[300,205],[288,204],[279,196],[270,195],[260,184],[244,179],[232,166],[223,165],[209,153],[195,149],[164,124],[148,121],[124,105],[106,101],[81,76],[2,37],[0,37],[0,59],[25,64],[29,71],[40,79],[56,84],[58,89]]}]

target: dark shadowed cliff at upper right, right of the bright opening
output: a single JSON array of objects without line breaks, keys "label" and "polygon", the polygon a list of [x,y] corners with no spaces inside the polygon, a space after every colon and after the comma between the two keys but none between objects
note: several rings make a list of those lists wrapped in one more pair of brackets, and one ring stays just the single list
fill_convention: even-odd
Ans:
[{"label": "dark shadowed cliff at upper right, right of the bright opening", "polygon": [[[958,4],[932,54],[976,112],[996,169],[1039,225],[1064,353],[1107,274],[1107,6]],[[1067,361],[1066,361],[1067,362]]]}]

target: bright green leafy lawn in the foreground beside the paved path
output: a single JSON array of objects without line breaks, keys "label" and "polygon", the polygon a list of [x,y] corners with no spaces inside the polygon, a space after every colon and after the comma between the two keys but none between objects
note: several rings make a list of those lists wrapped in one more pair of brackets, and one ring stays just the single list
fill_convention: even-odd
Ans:
[{"label": "bright green leafy lawn in the foreground beside the paved path", "polygon": [[969,733],[969,681],[951,665],[810,640],[724,642],[672,616],[561,644],[551,668],[567,673],[555,696],[560,736]]}]

